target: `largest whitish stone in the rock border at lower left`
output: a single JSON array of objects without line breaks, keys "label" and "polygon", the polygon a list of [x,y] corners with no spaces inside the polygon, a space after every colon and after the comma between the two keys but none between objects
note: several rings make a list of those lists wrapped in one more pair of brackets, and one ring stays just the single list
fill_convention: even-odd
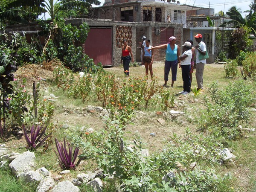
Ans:
[{"label": "largest whitish stone in the rock border at lower left", "polygon": [[30,151],[26,151],[21,154],[19,157],[16,157],[12,163],[10,163],[10,168],[12,169],[13,174],[22,172],[25,167],[32,167],[35,163],[35,154]]}]

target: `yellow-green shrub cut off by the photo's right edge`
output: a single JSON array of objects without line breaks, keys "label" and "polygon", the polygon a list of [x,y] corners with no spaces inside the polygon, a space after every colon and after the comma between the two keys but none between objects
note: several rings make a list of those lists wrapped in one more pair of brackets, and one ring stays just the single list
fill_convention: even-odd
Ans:
[{"label": "yellow-green shrub cut off by the photo's right edge", "polygon": [[243,64],[243,76],[244,78],[251,77],[256,78],[256,52],[248,52]]}]

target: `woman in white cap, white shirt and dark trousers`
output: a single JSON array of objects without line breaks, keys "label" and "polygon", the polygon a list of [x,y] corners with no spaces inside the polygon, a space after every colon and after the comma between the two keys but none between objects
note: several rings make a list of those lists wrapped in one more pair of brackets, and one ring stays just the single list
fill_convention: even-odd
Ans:
[{"label": "woman in white cap, white shirt and dark trousers", "polygon": [[183,80],[183,91],[179,92],[180,94],[186,95],[190,93],[191,90],[191,81],[190,81],[190,70],[191,70],[191,58],[192,58],[192,45],[188,41],[182,45],[185,49],[183,54],[180,56],[180,67],[182,71],[182,80]]}]

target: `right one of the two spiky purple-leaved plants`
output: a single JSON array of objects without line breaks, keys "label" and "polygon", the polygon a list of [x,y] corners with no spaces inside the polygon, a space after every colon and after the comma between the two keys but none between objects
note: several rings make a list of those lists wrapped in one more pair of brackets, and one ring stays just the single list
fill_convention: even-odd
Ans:
[{"label": "right one of the two spiky purple-leaved plants", "polygon": [[58,160],[60,161],[59,165],[61,166],[61,169],[76,169],[75,161],[76,157],[78,155],[79,148],[76,147],[75,151],[72,155],[73,147],[70,145],[70,143],[67,142],[67,147],[66,148],[66,141],[64,138],[64,146],[62,143],[58,142],[58,140],[55,138],[55,144],[57,151],[55,151],[55,154],[58,157]]}]

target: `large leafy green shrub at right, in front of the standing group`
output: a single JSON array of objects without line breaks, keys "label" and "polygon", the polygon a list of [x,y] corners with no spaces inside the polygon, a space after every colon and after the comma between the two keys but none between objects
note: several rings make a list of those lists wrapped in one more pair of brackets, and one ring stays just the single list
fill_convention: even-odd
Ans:
[{"label": "large leafy green shrub at right, in front of the standing group", "polygon": [[216,136],[239,136],[237,126],[248,121],[249,107],[253,103],[251,86],[243,80],[230,83],[220,90],[217,83],[210,85],[211,99],[204,97],[206,109],[201,112],[198,123],[202,131],[208,130]]}]

